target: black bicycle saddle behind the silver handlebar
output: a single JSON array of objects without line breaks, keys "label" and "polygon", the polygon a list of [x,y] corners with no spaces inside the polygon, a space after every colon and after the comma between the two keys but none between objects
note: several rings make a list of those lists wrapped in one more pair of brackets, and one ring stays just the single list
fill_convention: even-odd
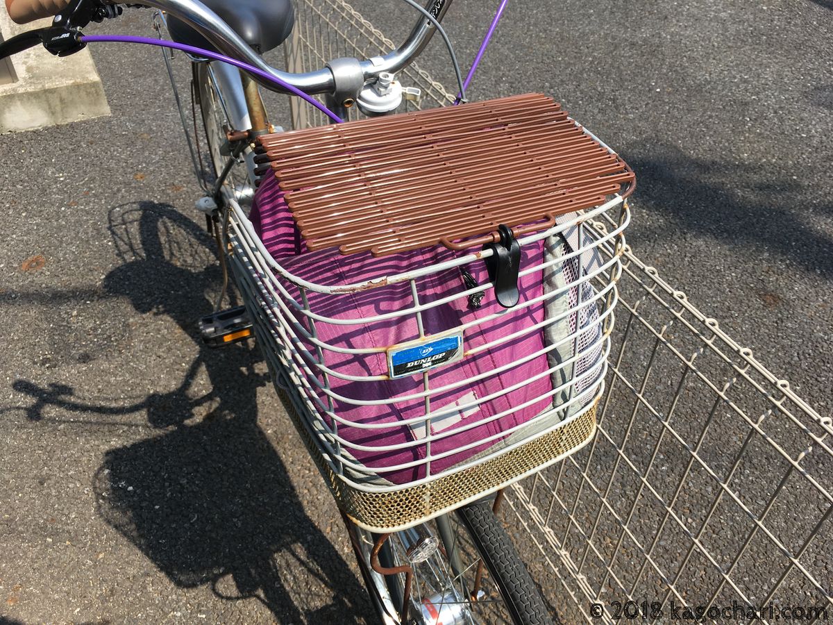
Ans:
[{"label": "black bicycle saddle behind the silver handlebar", "polygon": [[[260,53],[281,45],[295,23],[292,0],[202,0],[202,3]],[[167,27],[174,41],[217,52],[202,34],[172,15],[167,16]]]}]

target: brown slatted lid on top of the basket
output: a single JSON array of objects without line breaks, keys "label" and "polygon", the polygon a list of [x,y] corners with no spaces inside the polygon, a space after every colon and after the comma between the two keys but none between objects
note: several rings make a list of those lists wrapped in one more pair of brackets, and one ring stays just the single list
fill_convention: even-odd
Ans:
[{"label": "brown slatted lid on top of the basket", "polygon": [[541,94],[259,139],[310,250],[466,249],[550,228],[634,175]]}]

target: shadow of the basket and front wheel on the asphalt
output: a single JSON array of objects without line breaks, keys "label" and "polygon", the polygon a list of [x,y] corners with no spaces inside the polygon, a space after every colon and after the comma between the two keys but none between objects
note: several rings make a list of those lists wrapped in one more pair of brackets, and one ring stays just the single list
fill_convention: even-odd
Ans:
[{"label": "shadow of the basket and front wheel on the asphalt", "polygon": [[[178,587],[256,598],[278,622],[343,622],[363,607],[257,425],[218,418],[113,449],[93,485],[98,513]],[[333,589],[315,614],[295,604],[309,576]]]}]

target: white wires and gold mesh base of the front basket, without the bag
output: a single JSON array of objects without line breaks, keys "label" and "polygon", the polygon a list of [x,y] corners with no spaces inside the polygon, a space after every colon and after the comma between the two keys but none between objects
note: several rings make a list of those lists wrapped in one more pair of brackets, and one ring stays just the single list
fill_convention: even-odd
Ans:
[{"label": "white wires and gold mesh base of the front basket, without the bag", "polygon": [[[616,228],[609,232],[604,228],[592,227],[588,220],[606,215]],[[448,306],[455,301],[467,301],[471,295],[491,289],[490,284],[480,284],[475,288],[466,288],[460,282],[456,293],[447,293],[445,297],[427,301],[421,298],[426,279],[438,273],[457,271],[458,268],[470,266],[471,263],[482,263],[483,258],[490,256],[490,251],[456,255],[451,260],[436,263],[432,266],[416,268],[410,272],[387,276],[378,276],[362,283],[323,285],[310,281],[291,273],[281,263],[278,263],[268,253],[261,240],[257,237],[252,223],[242,209],[231,204],[230,242],[232,245],[232,268],[237,273],[238,282],[242,285],[242,297],[255,320],[258,341],[267,354],[268,362],[276,377],[276,383],[281,388],[282,395],[289,400],[294,413],[293,419],[299,432],[307,443],[312,457],[327,479],[327,484],[337,499],[339,506],[347,512],[362,527],[377,532],[390,532],[405,527],[411,527],[428,518],[439,515],[449,509],[459,506],[491,493],[499,488],[516,482],[542,467],[557,462],[569,453],[581,448],[594,433],[596,403],[603,390],[602,380],[606,374],[606,357],[609,352],[609,335],[613,323],[613,307],[616,303],[616,279],[621,273],[620,254],[624,244],[623,231],[629,222],[629,213],[623,198],[617,196],[600,207],[586,212],[572,213],[554,228],[543,233],[521,238],[521,248],[534,246],[540,242],[551,240],[553,237],[563,236],[572,232],[572,239],[581,243],[575,250],[561,258],[538,262],[529,267],[523,267],[521,278],[525,275],[542,275],[551,271],[553,267],[565,266],[573,259],[586,258],[593,254],[600,260],[592,266],[590,271],[578,271],[575,277],[563,288],[550,293],[543,293],[536,298],[521,301],[516,308],[505,313],[485,315],[463,324],[459,328],[448,328],[448,332],[461,331],[468,333],[483,324],[500,323],[501,317],[524,314],[536,306],[544,306],[546,302],[563,296],[571,289],[577,291],[579,286],[592,285],[589,291],[578,302],[573,302],[571,308],[561,314],[561,317],[546,318],[543,322],[526,324],[521,330],[506,337],[493,341],[475,350],[485,352],[496,349],[501,343],[519,340],[532,333],[542,333],[550,325],[563,322],[565,318],[582,311],[595,309],[597,318],[592,322],[598,332],[593,335],[593,341],[587,341],[591,322],[576,326],[560,343],[546,346],[541,353],[517,355],[516,361],[504,366],[502,370],[511,369],[528,363],[531,358],[542,358],[544,354],[553,352],[559,345],[575,345],[572,358],[564,362],[554,363],[550,368],[543,368],[536,373],[536,378],[550,377],[554,373],[564,373],[567,368],[572,369],[572,375],[567,376],[561,386],[546,390],[546,393],[531,398],[528,403],[549,401],[559,395],[561,401],[551,409],[537,415],[530,423],[541,424],[537,428],[530,428],[528,424],[517,424],[511,428],[503,428],[490,438],[477,438],[475,441],[455,445],[451,449],[437,453],[432,451],[438,447],[443,439],[459,436],[474,426],[496,421],[506,417],[506,411],[496,413],[487,419],[466,425],[447,428],[441,432],[425,435],[431,424],[426,418],[442,417],[442,409],[428,408],[431,400],[437,397],[447,397],[449,393],[460,396],[465,393],[468,385],[478,379],[495,376],[501,371],[485,370],[478,374],[477,379],[465,378],[456,382],[431,387],[433,371],[422,373],[421,387],[407,396],[389,398],[387,401],[367,401],[359,396],[347,397],[332,390],[332,383],[349,378],[350,382],[385,383],[389,376],[382,372],[370,372],[365,376],[346,376],[337,368],[327,366],[327,359],[334,353],[345,350],[353,353],[384,352],[384,348],[360,346],[358,348],[344,348],[320,340],[322,328],[334,326],[337,331],[349,333],[355,328],[362,328],[368,324],[378,323],[382,318],[385,323],[416,323],[422,328],[422,319],[431,308]],[[582,263],[574,265],[584,267]],[[374,297],[376,293],[384,293],[384,289],[402,287],[412,294],[410,302],[390,302],[391,306],[399,308],[387,310],[372,318],[347,318],[327,316],[317,312],[313,302],[327,303],[332,300],[338,302],[345,297],[361,298]],[[294,293],[292,293],[294,292]],[[591,294],[591,295],[590,295]],[[293,297],[294,295],[294,297]],[[588,295],[590,295],[588,297]],[[338,307],[330,307],[332,308]],[[332,313],[331,313],[332,314]],[[585,318],[589,319],[587,315]],[[463,358],[471,358],[474,354],[466,353]],[[592,358],[588,365],[585,361]],[[584,362],[583,368],[573,366]],[[454,367],[455,365],[451,365]],[[442,369],[437,370],[439,372]],[[507,388],[496,388],[494,393],[486,398],[467,398],[463,403],[457,403],[455,410],[461,413],[476,409],[486,400],[499,398],[521,388],[534,380],[521,379]],[[452,388],[450,388],[452,387]],[[456,392],[456,389],[461,389]],[[566,401],[563,400],[566,398]],[[415,437],[411,442],[395,443],[392,445],[377,444],[371,437],[357,443],[347,438],[344,433],[347,428],[364,428],[373,433],[390,429],[390,423],[374,424],[368,422],[348,421],[340,413],[342,407],[370,406],[381,404],[394,405],[406,402],[425,403],[427,413],[407,418],[399,425],[410,428],[425,428],[422,438]],[[442,405],[433,403],[434,406]],[[447,408],[447,406],[446,406]],[[516,407],[524,408],[523,405]],[[446,414],[449,411],[446,409]],[[461,422],[462,423],[462,422]],[[446,458],[455,458],[466,450],[482,447],[484,443],[494,443],[485,452],[471,452],[461,462],[452,463]],[[395,464],[357,461],[360,452],[372,449],[378,452],[397,452],[405,448],[406,451],[420,448],[416,460]],[[473,455],[472,455],[473,454]],[[445,462],[444,462],[445,461]],[[439,467],[439,468],[437,468]],[[412,472],[412,478],[406,482],[393,483],[387,476]]]}]

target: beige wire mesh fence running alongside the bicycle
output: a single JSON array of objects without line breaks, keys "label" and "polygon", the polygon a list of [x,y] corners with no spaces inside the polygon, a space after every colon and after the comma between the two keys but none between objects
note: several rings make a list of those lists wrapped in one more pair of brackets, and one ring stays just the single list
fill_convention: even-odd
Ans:
[{"label": "beige wire mesh fence running alongside the bicycle", "polygon": [[[287,67],[391,40],[297,2]],[[421,106],[453,100],[416,64]],[[296,128],[324,120],[294,107]],[[833,420],[626,249],[596,438],[507,493],[507,529],[566,623],[833,619]],[[599,604],[599,605],[594,605]]]}]

